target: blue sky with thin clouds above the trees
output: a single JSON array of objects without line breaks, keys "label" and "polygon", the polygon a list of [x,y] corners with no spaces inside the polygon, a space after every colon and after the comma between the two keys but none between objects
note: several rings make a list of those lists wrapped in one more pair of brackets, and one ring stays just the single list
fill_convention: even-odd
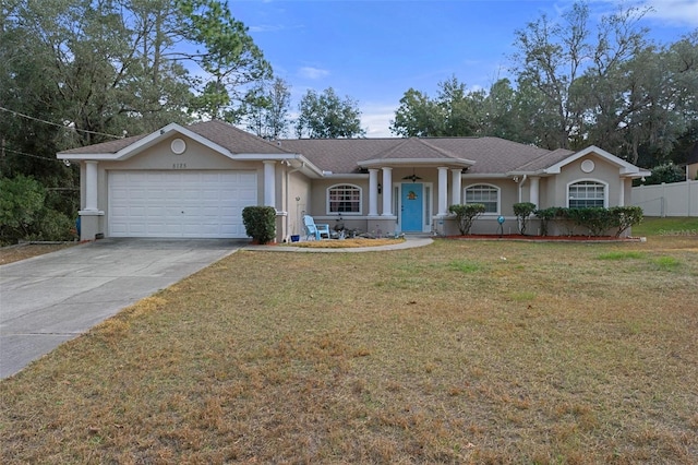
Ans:
[{"label": "blue sky with thin clouds above the trees", "polygon": [[[545,13],[558,19],[570,0],[229,0],[272,63],[291,85],[292,110],[309,88],[332,86],[362,110],[368,136],[393,136],[389,121],[413,87],[435,96],[452,75],[469,88],[508,75],[514,33]],[[593,0],[593,17],[616,0]],[[660,44],[698,28],[698,0],[641,0],[641,25]],[[289,134],[291,135],[291,134]]]}]

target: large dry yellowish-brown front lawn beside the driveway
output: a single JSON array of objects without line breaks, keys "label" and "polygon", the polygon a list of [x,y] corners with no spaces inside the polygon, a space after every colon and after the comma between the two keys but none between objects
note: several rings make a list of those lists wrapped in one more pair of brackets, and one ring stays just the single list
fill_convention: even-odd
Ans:
[{"label": "large dry yellowish-brown front lawn beside the driveway", "polygon": [[240,251],[3,381],[2,462],[696,463],[695,248]]}]

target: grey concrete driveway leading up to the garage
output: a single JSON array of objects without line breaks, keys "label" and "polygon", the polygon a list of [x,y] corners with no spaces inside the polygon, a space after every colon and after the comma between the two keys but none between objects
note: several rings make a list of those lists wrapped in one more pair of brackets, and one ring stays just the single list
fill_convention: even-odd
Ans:
[{"label": "grey concrete driveway leading up to the garage", "polygon": [[0,379],[246,243],[104,239],[0,266]]}]

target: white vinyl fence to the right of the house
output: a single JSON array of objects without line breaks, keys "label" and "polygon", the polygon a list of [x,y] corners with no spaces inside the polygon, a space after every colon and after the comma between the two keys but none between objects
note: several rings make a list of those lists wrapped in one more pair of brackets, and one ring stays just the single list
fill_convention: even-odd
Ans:
[{"label": "white vinyl fence to the right of the house", "polygon": [[698,216],[698,180],[633,188],[630,203],[645,216]]}]

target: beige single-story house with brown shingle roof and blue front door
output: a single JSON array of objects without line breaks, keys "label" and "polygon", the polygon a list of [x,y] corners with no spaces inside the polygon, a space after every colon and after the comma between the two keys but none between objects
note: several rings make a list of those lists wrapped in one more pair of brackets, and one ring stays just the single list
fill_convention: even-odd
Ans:
[{"label": "beige single-story house with brown shingle roof and blue front door", "polygon": [[631,179],[650,175],[595,146],[551,152],[497,138],[269,142],[221,121],[172,123],[58,158],[80,162],[81,240],[245,238],[249,205],[276,208],[277,241],[304,235],[304,213],[375,235],[456,235],[448,207],[462,203],[486,206],[473,234],[496,234],[500,216],[504,234],[515,234],[517,202],[625,205]]}]

